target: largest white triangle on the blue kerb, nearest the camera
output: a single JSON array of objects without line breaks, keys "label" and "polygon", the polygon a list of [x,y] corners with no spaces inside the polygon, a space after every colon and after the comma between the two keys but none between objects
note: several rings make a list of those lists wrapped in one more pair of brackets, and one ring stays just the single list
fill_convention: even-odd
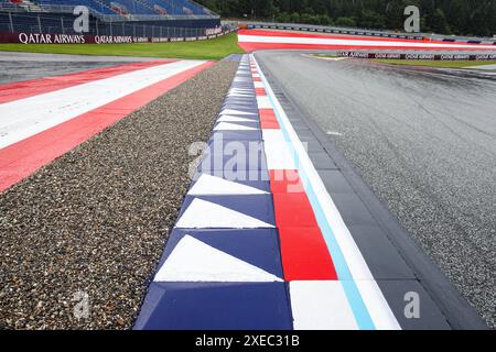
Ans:
[{"label": "largest white triangle on the blue kerb, nearest the camera", "polygon": [[281,278],[185,235],[159,270],[155,282],[273,283]]}]

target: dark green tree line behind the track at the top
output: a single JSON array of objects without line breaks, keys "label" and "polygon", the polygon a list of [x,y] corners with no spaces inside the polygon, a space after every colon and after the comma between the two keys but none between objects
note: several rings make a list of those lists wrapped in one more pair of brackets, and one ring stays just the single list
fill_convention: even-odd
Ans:
[{"label": "dark green tree line behind the track at the top", "polygon": [[496,34],[496,0],[197,0],[224,18],[403,30],[408,6],[421,14],[421,32]]}]

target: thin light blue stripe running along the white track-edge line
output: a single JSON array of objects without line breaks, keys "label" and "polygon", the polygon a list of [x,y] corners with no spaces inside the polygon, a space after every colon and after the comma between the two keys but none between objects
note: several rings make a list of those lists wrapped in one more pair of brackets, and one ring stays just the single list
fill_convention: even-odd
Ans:
[{"label": "thin light blue stripe running along the white track-edge line", "polygon": [[[258,70],[260,72],[260,77],[263,80],[265,85],[270,87],[270,85],[267,81],[258,63],[257,63],[257,67],[258,67]],[[270,100],[272,107],[276,107],[276,103],[274,103],[271,95],[268,94],[267,96],[269,97],[269,100]],[[356,286],[356,283],[353,280],[352,273],[349,272],[349,268],[348,268],[346,260],[343,255],[343,252],[341,251],[341,248],[337,244],[336,238],[334,235],[334,231],[332,230],[332,227],[327,222],[327,219],[324,215],[321,204],[319,202],[319,200],[315,196],[315,191],[312,187],[312,184],[309,182],[306,173],[304,172],[304,169],[302,169],[300,167],[300,161],[298,158],[298,153],[293,147],[291,138],[290,138],[288,131],[285,130],[285,125],[282,122],[282,118],[280,117],[278,109],[274,109],[274,113],[276,113],[276,117],[278,118],[279,124],[282,127],[281,128],[282,134],[284,135],[284,140],[288,143],[288,146],[291,148],[291,152],[292,152],[291,154],[294,157],[294,163],[300,173],[300,177],[302,177],[303,185],[305,185],[306,196],[309,197],[309,200],[312,205],[317,223],[321,227],[321,230],[324,234],[325,243],[326,243],[327,249],[333,258],[333,263],[337,271],[337,276],[339,278],[339,282],[342,283],[343,288],[346,293],[346,297],[348,298],[348,301],[352,306],[352,310],[353,310],[353,314],[355,315],[357,324],[358,324],[359,329],[362,329],[362,330],[375,330],[376,327],[374,324],[374,321],[370,318],[370,315],[367,310],[367,307],[365,306],[364,299],[362,298],[362,295],[358,290],[358,287]]]}]

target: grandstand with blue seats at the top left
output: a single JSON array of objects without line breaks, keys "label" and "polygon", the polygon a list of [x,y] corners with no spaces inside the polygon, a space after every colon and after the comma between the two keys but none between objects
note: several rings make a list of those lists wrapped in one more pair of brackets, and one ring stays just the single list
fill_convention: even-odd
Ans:
[{"label": "grandstand with blue seats at the top left", "polygon": [[90,35],[203,36],[220,18],[191,0],[0,0],[0,33],[75,34],[74,9],[89,12]]}]

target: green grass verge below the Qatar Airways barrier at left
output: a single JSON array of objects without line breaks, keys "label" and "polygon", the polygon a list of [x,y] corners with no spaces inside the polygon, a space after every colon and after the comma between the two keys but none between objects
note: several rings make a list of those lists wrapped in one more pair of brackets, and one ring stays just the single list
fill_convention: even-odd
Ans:
[{"label": "green grass verge below the Qatar Airways barrier at left", "polygon": [[142,56],[222,59],[230,54],[245,53],[238,36],[230,33],[218,38],[179,43],[133,44],[0,44],[0,51],[73,55]]}]

